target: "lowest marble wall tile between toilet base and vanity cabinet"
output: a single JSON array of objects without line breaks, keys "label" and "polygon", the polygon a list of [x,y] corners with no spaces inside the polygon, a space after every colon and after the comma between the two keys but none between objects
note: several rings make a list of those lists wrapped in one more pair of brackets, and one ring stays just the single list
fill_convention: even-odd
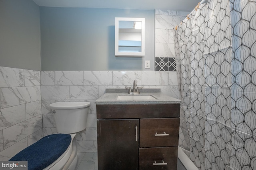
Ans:
[{"label": "lowest marble wall tile between toilet base and vanity cabinet", "polygon": [[77,152],[97,152],[97,141],[77,141]]}]

